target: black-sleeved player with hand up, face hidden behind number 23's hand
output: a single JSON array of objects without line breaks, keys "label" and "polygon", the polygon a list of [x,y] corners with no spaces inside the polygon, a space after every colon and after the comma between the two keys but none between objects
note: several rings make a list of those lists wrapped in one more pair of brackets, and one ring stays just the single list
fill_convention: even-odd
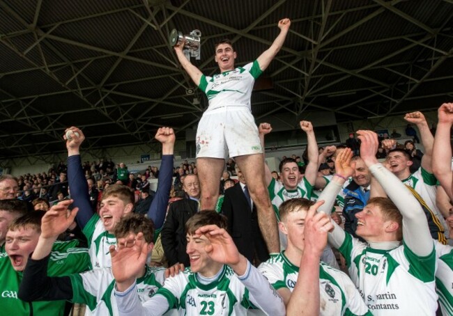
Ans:
[{"label": "black-sleeved player with hand up, face hidden behind number 23's hand", "polygon": [[[50,211],[49,211],[50,212]],[[114,299],[114,276],[112,268],[94,269],[82,274],[68,276],[47,276],[49,249],[56,237],[70,224],[66,210],[55,210],[45,215],[41,228],[40,241],[31,259],[27,262],[24,279],[20,285],[19,297],[24,301],[68,300],[83,303],[91,315],[118,315]],[[73,212],[73,211],[72,211]],[[73,219],[73,215],[71,218]],[[116,238],[125,238],[130,234],[143,234],[148,248],[153,248],[154,226],[143,215],[127,214],[114,228]],[[165,269],[155,269],[144,264],[137,278],[137,295],[141,301],[147,301],[164,283]]]}]

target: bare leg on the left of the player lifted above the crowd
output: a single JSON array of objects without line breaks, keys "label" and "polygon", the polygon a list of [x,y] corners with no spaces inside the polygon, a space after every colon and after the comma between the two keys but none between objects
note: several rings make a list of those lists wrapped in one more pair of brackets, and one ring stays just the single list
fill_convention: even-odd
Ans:
[{"label": "bare leg on the left of the player lifted above the crowd", "polygon": [[215,210],[224,166],[224,159],[197,158],[198,178],[201,185],[201,210]]}]

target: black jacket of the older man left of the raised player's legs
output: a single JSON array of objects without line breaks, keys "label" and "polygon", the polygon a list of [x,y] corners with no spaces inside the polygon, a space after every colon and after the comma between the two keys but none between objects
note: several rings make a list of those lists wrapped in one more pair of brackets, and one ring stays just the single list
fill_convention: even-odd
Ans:
[{"label": "black jacket of the older man left of the raised player's legs", "polygon": [[198,212],[196,200],[185,198],[171,203],[167,220],[160,232],[162,247],[169,266],[183,263],[190,266],[189,255],[185,252],[187,241],[185,239],[185,223],[192,215]]}]

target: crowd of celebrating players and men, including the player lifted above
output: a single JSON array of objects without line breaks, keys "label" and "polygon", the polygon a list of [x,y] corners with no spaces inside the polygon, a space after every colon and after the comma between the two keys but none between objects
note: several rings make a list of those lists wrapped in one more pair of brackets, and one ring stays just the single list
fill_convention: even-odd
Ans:
[{"label": "crowd of celebrating players and men, including the player lifted above", "polygon": [[[77,127],[63,136],[70,198],[29,212],[15,177],[0,177],[4,315],[74,315],[72,303],[85,315],[453,315],[453,104],[440,106],[435,136],[421,112],[406,114],[423,155],[369,130],[320,152],[302,120],[305,166],[285,158],[272,173],[263,159],[272,127],[256,126],[250,95],[290,25],[279,21],[269,49],[243,67],[234,66],[231,42],[217,43],[213,77],[175,47],[209,100],[197,173],[192,166],[173,182],[174,130],[158,129],[158,189],[144,212],[126,179],[92,203]],[[224,175],[220,196],[228,157],[238,182]],[[172,184],[183,194],[171,196]],[[74,226],[86,248],[77,237],[57,240]]]}]

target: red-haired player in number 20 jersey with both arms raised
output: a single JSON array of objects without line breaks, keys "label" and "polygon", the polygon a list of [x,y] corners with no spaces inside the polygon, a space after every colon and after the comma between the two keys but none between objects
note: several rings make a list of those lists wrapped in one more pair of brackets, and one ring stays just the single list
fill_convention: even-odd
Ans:
[{"label": "red-haired player in number 20 jersey with both arms raised", "polygon": [[[358,131],[358,135],[360,156],[390,200],[372,198],[355,214],[355,233],[366,242],[335,223],[329,242],[344,255],[349,275],[373,315],[435,315],[436,253],[427,217],[407,187],[378,163],[376,133]],[[320,199],[325,200],[321,212],[329,214],[353,168],[345,167],[341,173],[321,193]]]}]

